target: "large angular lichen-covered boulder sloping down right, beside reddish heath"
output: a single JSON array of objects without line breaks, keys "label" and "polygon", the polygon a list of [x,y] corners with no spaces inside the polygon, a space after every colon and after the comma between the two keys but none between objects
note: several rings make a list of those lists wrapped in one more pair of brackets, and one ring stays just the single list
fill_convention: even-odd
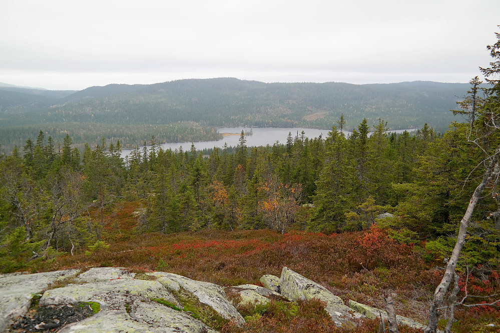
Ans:
[{"label": "large angular lichen-covered boulder sloping down right, beside reddish heath", "polygon": [[342,302],[342,299],[333,294],[324,286],[283,267],[279,281],[281,294],[294,301],[317,298],[326,302],[325,310],[330,314],[337,326],[354,326],[354,319],[364,315],[354,311]]}]

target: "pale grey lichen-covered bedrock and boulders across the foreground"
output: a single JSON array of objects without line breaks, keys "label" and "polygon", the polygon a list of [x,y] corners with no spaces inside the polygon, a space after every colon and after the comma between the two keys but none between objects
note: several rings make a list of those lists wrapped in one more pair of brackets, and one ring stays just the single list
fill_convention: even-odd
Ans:
[{"label": "pale grey lichen-covered bedrock and boulders across the foreground", "polygon": [[[241,284],[226,288],[241,296],[236,306],[320,299],[337,326],[351,327],[359,318],[387,316],[385,311],[352,300],[349,307],[324,286],[287,267],[283,267],[281,277],[264,275],[261,282],[265,287]],[[35,325],[27,313],[36,302],[37,313],[58,312],[59,319],[51,314]],[[78,319],[70,318],[75,312],[71,308],[82,308]],[[423,328],[411,319],[397,319]],[[0,275],[0,331],[8,330],[16,320],[17,328],[28,322],[60,332],[215,332],[213,322],[217,320],[245,323],[220,285],[174,273],[134,273],[118,267]]]}]

